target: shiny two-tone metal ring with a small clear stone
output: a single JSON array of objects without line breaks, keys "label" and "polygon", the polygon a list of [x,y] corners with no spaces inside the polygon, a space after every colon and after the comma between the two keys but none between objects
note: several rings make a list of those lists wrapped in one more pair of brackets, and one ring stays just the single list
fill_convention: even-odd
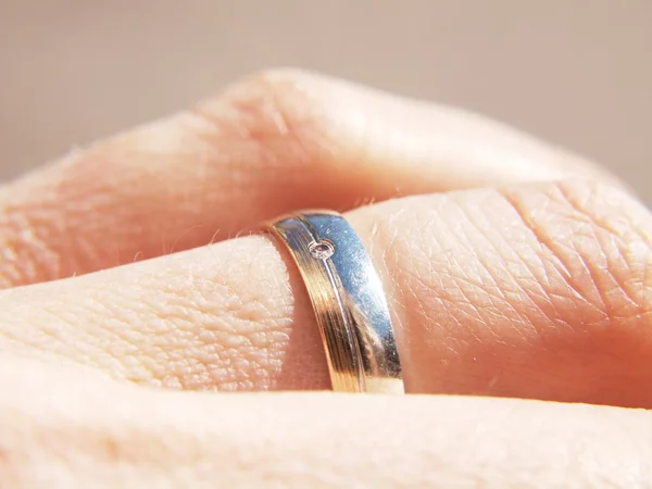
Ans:
[{"label": "shiny two-tone metal ring with a small clear stone", "polygon": [[308,289],[333,383],[340,392],[403,393],[403,376],[380,278],[337,212],[303,211],[268,224]]}]

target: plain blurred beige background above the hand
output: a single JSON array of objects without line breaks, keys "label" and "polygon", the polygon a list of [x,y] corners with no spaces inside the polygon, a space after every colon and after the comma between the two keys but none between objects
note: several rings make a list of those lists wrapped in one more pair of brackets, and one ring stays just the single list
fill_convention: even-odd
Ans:
[{"label": "plain blurred beige background above the hand", "polygon": [[0,0],[0,178],[296,65],[462,105],[652,202],[649,0]]}]

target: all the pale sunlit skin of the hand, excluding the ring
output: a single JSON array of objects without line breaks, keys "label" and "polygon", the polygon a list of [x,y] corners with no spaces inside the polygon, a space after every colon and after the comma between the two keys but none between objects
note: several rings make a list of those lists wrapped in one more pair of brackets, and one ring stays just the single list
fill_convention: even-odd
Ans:
[{"label": "all the pale sunlit skin of the hand, excluding the ring", "polygon": [[[652,487],[652,215],[574,154],[284,70],[0,205],[0,487]],[[327,392],[250,234],[302,208],[347,211],[412,396]]]}]

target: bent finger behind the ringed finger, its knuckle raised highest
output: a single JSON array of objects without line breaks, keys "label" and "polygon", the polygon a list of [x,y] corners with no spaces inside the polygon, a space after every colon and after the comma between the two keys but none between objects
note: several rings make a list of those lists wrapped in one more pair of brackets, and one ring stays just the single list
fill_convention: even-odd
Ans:
[{"label": "bent finger behind the ringed finger, its knuckle raised highest", "polygon": [[298,72],[74,151],[0,192],[0,287],[230,237],[298,208],[598,175],[479,116]]}]

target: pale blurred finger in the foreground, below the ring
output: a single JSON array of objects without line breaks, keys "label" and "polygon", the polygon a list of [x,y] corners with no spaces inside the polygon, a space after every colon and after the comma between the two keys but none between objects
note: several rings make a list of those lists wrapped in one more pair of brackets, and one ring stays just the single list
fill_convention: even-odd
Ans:
[{"label": "pale blurred finger in the foreground, below the ring", "polygon": [[652,480],[645,411],[489,398],[211,396],[25,368],[16,381],[0,372],[2,487],[630,488]]}]

